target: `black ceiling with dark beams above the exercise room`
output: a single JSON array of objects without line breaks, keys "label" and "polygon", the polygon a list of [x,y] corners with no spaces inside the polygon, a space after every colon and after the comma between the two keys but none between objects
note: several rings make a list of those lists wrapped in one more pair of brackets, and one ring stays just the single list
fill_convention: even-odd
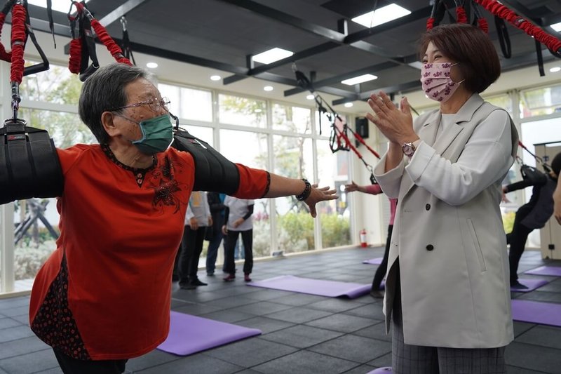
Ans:
[{"label": "black ceiling with dark beams above the exercise room", "polygon": [[[372,11],[375,4],[381,7],[391,2],[412,13],[372,29],[350,20]],[[561,36],[547,27],[561,22],[560,0],[501,3]],[[454,1],[447,0],[446,4],[450,15],[445,15],[443,23],[452,22],[450,16],[455,15]],[[432,8],[429,1],[420,0],[90,0],[87,6],[115,39],[121,39],[119,19],[125,15],[133,52],[229,72],[225,86],[248,76],[294,86],[285,91],[285,96],[304,91],[297,86],[292,71],[292,62],[296,62],[306,76],[315,74],[313,86],[317,91],[341,98],[335,104],[364,100],[379,89],[393,93],[419,89],[419,69],[407,64],[417,61],[417,39],[426,29]],[[508,22],[512,57],[503,58],[494,17],[479,9],[489,23],[489,36],[501,55],[503,70],[537,65],[534,39]],[[30,5],[29,14],[34,29],[48,29],[44,10]],[[55,24],[57,34],[69,35],[66,15],[55,13]],[[247,64],[248,55],[273,47],[295,55],[271,65]],[[553,58],[543,47],[543,59]],[[340,83],[367,73],[378,79],[359,86]]]}]

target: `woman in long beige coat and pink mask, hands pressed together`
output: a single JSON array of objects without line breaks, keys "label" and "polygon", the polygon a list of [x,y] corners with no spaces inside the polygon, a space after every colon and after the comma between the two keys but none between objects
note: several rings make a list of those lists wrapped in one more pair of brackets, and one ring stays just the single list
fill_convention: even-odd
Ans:
[{"label": "woman in long beige coat and pink mask, hands pressed together", "polygon": [[384,313],[393,373],[506,373],[513,340],[501,181],[516,154],[508,113],[482,100],[500,74],[488,36],[442,25],[421,40],[421,83],[440,109],[412,120],[372,95],[389,140],[374,175],[397,198]]}]

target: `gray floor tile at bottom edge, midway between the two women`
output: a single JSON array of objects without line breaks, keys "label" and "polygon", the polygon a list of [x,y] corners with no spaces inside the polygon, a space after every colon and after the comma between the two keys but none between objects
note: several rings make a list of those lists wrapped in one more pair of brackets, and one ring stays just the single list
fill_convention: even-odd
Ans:
[{"label": "gray floor tile at bottom edge, midway between the two women", "polygon": [[264,374],[338,374],[354,367],[356,367],[356,363],[353,361],[337,359],[315,352],[299,351],[255,366],[253,369]]}]

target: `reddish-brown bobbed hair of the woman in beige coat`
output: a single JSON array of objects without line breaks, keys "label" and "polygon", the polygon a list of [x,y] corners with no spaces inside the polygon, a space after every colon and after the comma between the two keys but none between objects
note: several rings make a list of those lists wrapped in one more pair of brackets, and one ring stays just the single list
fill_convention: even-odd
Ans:
[{"label": "reddish-brown bobbed hair of the woman in beige coat", "polygon": [[470,92],[485,91],[501,75],[501,62],[489,36],[478,27],[464,23],[436,26],[421,37],[421,60],[428,43],[454,62],[461,72],[463,85]]}]

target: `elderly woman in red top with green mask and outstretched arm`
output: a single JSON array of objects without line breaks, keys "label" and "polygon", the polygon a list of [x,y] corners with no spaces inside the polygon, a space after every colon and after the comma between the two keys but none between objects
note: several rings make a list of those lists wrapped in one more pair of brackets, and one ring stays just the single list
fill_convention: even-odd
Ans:
[{"label": "elderly woman in red top with green mask and outstretched arm", "polygon": [[[58,149],[60,238],[36,276],[29,321],[64,373],[122,373],[127,359],[168,335],[170,279],[196,162],[169,148],[167,104],[144,70],[103,67],[83,84],[79,102],[100,144]],[[240,199],[295,194],[315,217],[318,201],[337,198],[306,180],[235,167]]]}]

